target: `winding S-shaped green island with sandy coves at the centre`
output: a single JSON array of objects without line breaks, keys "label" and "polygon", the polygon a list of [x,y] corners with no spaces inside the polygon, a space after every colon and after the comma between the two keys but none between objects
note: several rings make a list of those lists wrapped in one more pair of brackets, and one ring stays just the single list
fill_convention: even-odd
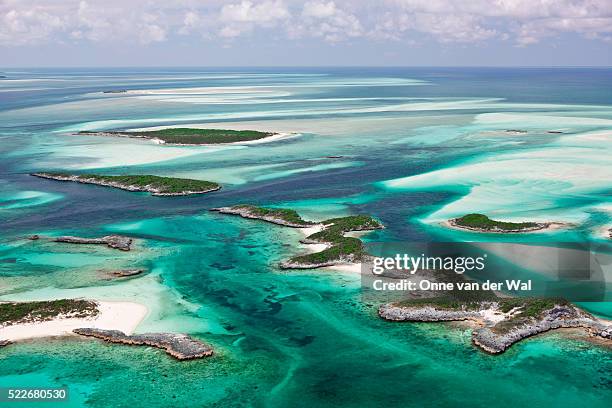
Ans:
[{"label": "winding S-shaped green island with sandy coves at the centre", "polygon": [[260,219],[294,228],[314,228],[316,232],[309,234],[301,242],[304,244],[322,244],[326,248],[319,252],[299,255],[281,262],[280,267],[282,269],[314,269],[359,263],[367,256],[363,242],[359,238],[347,237],[345,234],[384,228],[380,222],[369,215],[350,215],[315,223],[305,221],[296,211],[285,208],[265,208],[242,204],[233,207],[213,208],[211,211]]}]

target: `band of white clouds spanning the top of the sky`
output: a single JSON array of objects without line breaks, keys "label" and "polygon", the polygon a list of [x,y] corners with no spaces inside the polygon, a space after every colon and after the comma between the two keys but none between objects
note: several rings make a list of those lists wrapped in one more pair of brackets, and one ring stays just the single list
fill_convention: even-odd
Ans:
[{"label": "band of white clouds spanning the top of the sky", "polygon": [[180,34],[338,42],[441,43],[492,38],[527,46],[562,34],[612,38],[610,0],[0,0],[0,46],[46,42],[150,44]]}]

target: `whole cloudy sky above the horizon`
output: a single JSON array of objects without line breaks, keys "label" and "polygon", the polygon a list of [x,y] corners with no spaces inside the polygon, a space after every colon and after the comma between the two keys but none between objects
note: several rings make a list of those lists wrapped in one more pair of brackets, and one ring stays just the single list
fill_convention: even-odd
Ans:
[{"label": "whole cloudy sky above the horizon", "polygon": [[0,66],[606,65],[612,0],[0,0]]}]

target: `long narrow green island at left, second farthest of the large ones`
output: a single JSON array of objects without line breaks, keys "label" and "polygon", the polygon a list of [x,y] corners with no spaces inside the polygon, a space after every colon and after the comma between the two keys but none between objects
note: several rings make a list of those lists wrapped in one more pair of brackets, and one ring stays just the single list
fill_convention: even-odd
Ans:
[{"label": "long narrow green island at left, second farthest of the large ones", "polygon": [[95,184],[127,191],[148,192],[153,196],[185,196],[221,189],[217,183],[152,175],[106,176],[97,174],[33,173],[32,176],[57,181]]}]

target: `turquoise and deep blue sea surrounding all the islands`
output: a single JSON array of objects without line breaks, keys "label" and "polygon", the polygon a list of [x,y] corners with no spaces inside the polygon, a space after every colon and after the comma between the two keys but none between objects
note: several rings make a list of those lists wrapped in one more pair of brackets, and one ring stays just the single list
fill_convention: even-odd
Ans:
[{"label": "turquoise and deep blue sea surrounding all the islands", "polygon": [[[358,275],[276,267],[300,252],[299,232],[208,209],[370,213],[387,226],[372,242],[483,240],[439,225],[477,211],[574,224],[527,242],[603,244],[612,71],[243,71],[7,72],[21,81],[0,82],[0,299],[133,300],[150,310],[139,332],[186,332],[217,353],[177,362],[149,348],[36,340],[0,351],[0,386],[68,386],[70,404],[58,406],[75,407],[609,406],[609,347],[552,333],[493,357],[472,347],[465,327],[382,321]],[[111,89],[136,92],[101,93]],[[210,148],[66,133],[173,124],[299,136]],[[169,199],[27,175],[78,169],[224,188]],[[120,233],[136,246],[24,239],[34,233]],[[147,272],[105,278],[131,267]],[[583,306],[610,317],[605,288]]]}]

